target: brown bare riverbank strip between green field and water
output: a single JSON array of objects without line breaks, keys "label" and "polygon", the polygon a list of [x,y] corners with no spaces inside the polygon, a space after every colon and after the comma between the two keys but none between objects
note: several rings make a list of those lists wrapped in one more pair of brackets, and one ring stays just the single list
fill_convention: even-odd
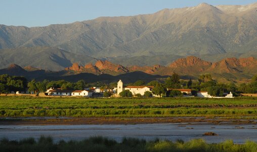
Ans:
[{"label": "brown bare riverbank strip between green field and water", "polygon": [[0,118],[0,125],[134,125],[166,123],[208,123],[257,125],[255,119],[169,117],[169,118]]}]

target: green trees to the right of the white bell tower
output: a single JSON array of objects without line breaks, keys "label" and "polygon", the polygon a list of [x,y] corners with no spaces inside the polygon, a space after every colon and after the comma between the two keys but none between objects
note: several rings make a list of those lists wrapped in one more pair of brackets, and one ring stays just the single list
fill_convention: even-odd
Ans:
[{"label": "green trees to the right of the white bell tower", "polygon": [[251,82],[246,84],[235,83],[221,83],[212,79],[210,74],[202,74],[198,80],[181,81],[180,76],[174,73],[171,77],[168,77],[160,81],[152,81],[146,83],[142,80],[130,83],[128,85],[134,86],[154,86],[152,92],[159,96],[174,97],[183,96],[180,91],[166,89],[192,89],[192,95],[196,95],[198,91],[207,91],[212,96],[223,96],[224,93],[232,92],[234,95],[240,93],[257,93],[257,75],[252,77]]}]

